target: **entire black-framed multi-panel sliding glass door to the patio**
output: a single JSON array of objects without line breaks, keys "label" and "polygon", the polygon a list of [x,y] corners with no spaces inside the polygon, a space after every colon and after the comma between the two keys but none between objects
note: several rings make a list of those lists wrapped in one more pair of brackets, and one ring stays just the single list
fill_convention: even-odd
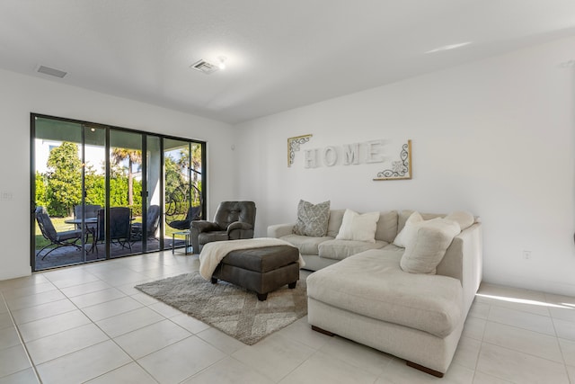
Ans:
[{"label": "entire black-framed multi-panel sliding glass door to the patio", "polygon": [[204,143],[34,114],[31,133],[34,271],[182,246],[204,214]]}]

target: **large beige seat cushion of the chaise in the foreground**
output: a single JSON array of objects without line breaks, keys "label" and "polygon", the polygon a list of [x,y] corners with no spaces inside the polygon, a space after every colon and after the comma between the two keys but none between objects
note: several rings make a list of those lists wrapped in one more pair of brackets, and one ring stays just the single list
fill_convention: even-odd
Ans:
[{"label": "large beige seat cushion of the chaise in the foreground", "polygon": [[402,248],[375,249],[307,278],[307,295],[335,308],[445,337],[463,314],[461,283],[447,276],[403,272]]}]

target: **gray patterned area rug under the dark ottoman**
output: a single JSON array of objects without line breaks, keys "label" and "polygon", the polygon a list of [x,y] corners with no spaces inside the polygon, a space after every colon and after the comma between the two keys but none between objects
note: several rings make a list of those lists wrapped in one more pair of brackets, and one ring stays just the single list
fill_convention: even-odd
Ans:
[{"label": "gray patterned area rug under the dark ottoman", "polygon": [[258,300],[255,292],[225,281],[212,284],[199,272],[135,288],[248,345],[307,314],[305,280],[297,281],[293,290],[286,285],[270,292],[265,301]]}]

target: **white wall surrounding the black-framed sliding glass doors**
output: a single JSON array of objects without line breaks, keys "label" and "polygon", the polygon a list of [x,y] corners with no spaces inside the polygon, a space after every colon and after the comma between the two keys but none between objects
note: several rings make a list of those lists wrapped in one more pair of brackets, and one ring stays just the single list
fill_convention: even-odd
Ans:
[{"label": "white wall surrounding the black-framed sliding glass doors", "polygon": [[229,124],[0,70],[0,280],[31,273],[30,113],[208,142],[208,213],[235,196]]}]

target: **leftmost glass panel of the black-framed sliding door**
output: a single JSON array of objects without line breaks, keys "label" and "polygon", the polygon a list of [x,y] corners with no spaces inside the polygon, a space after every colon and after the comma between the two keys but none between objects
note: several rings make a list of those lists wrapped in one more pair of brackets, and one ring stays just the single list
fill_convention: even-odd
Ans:
[{"label": "leftmost glass panel of the black-framed sliding door", "polygon": [[[34,227],[36,269],[86,261],[92,227],[82,216],[84,127],[37,118],[34,139]],[[52,260],[57,260],[53,263]]]}]

